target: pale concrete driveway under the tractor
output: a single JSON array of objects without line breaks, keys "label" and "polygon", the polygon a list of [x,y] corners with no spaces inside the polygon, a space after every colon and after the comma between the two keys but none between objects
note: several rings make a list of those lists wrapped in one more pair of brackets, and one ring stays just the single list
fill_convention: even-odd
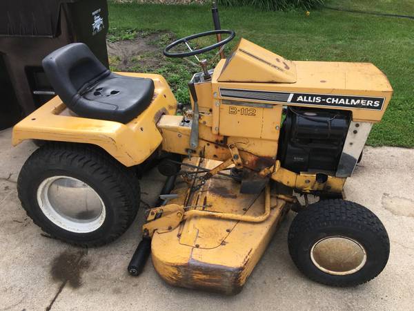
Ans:
[{"label": "pale concrete driveway under the tractor", "polygon": [[[143,212],[110,245],[80,249],[41,235],[21,209],[16,180],[36,149],[10,146],[0,131],[0,310],[413,310],[414,149],[371,148],[351,180],[348,200],[370,208],[391,240],[385,270],[357,288],[329,288],[300,274],[290,261],[286,236],[295,214],[273,238],[241,294],[220,296],[166,285],[148,262],[138,278],[126,266],[140,239]],[[164,178],[142,180],[143,200],[155,202]]]}]

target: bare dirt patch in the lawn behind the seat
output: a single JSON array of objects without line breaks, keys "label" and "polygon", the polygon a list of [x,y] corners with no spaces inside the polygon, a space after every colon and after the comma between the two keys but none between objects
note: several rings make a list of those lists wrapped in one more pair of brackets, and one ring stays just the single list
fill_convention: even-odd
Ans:
[{"label": "bare dirt patch in the lawn behind the seat", "polygon": [[135,39],[108,42],[112,70],[153,71],[166,63],[164,47],[175,39],[172,32],[138,32]]}]

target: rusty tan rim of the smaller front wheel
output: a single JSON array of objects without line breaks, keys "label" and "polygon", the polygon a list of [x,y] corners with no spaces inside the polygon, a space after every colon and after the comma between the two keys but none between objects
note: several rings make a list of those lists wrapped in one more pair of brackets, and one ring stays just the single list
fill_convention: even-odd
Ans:
[{"label": "rusty tan rim of the smaller front wheel", "polygon": [[311,260],[323,272],[333,275],[348,275],[364,267],[366,250],[353,238],[328,236],[313,245]]}]

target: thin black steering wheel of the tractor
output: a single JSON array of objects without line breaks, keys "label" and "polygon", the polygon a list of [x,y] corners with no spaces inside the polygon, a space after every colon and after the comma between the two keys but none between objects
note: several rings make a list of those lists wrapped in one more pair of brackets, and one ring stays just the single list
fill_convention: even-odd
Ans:
[{"label": "thin black steering wheel of the tractor", "polygon": [[[197,39],[197,38],[201,38],[201,37],[207,37],[207,36],[211,36],[211,35],[229,35],[226,39],[220,40],[219,42],[217,42],[216,44],[212,44],[211,46],[206,46],[205,48],[199,48],[197,50],[193,50],[190,45],[188,44],[189,41],[193,40],[193,39]],[[209,50],[214,50],[215,48],[220,48],[221,46],[224,46],[226,44],[228,44],[228,42],[230,42],[231,40],[233,40],[235,38],[236,33],[233,30],[210,30],[210,31],[206,31],[206,32],[200,32],[197,33],[195,35],[190,35],[188,37],[184,37],[182,39],[179,39],[177,41],[172,42],[172,44],[168,45],[165,49],[164,49],[164,55],[166,55],[166,57],[188,57],[188,56],[193,56],[193,55],[199,55],[202,53],[206,53]],[[175,48],[175,46],[178,46],[179,44],[186,44],[188,50],[190,50],[189,52],[182,52],[182,53],[170,53],[170,50],[172,48]]]}]

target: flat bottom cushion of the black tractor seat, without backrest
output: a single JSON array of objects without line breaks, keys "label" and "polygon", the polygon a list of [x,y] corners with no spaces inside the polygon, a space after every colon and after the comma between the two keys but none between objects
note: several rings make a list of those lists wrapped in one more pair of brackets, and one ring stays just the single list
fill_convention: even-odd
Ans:
[{"label": "flat bottom cushion of the black tractor seat, without backrest", "polygon": [[152,79],[110,73],[79,91],[70,109],[81,117],[128,123],[150,105],[153,95]]}]

